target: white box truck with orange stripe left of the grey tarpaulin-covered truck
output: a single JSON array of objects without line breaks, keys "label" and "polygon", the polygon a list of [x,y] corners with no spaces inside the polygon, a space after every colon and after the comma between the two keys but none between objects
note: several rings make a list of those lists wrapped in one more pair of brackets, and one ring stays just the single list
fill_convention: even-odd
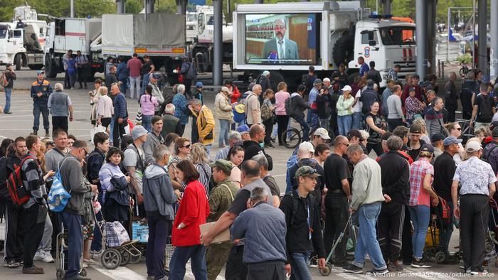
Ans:
[{"label": "white box truck with orange stripe left of the grey tarpaulin-covered truck", "polygon": [[[54,78],[64,72],[63,55],[78,50],[87,55],[92,65],[92,74],[103,71],[103,60],[99,52],[92,52],[90,45],[97,42],[102,31],[100,18],[55,18],[48,25],[48,38],[45,45],[45,72]],[[93,75],[92,75],[93,76]]]}]

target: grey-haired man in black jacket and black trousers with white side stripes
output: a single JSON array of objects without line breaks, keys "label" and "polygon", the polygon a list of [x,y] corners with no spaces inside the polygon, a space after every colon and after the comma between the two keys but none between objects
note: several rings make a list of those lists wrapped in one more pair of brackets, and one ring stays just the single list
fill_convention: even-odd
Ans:
[{"label": "grey-haired man in black jacket and black trousers with white side stripes", "polygon": [[[405,221],[405,205],[410,197],[410,166],[398,151],[403,146],[403,140],[398,136],[387,139],[388,151],[378,161],[381,166],[382,193],[390,201],[382,203],[378,216],[378,243],[389,271],[401,271],[398,264],[401,253],[403,224]],[[411,242],[411,240],[404,240]]]}]

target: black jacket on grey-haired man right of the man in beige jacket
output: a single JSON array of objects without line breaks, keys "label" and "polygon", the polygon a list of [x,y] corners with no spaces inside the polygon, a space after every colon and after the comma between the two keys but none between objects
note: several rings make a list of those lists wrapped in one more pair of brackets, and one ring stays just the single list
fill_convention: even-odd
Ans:
[{"label": "black jacket on grey-haired man right of the man in beige jacket", "polygon": [[378,161],[381,166],[382,193],[397,203],[407,204],[410,198],[410,166],[398,151],[388,151]]}]

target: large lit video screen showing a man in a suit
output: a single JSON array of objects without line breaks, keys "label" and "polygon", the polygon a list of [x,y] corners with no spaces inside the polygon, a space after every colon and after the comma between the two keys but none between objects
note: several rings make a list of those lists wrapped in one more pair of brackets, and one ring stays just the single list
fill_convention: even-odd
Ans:
[{"label": "large lit video screen showing a man in a suit", "polygon": [[245,63],[316,65],[320,14],[245,15]]}]

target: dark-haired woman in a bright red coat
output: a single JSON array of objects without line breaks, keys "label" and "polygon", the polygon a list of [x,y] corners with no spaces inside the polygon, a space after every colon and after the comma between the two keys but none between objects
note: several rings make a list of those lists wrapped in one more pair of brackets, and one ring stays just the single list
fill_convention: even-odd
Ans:
[{"label": "dark-haired woman in a bright red coat", "polygon": [[199,173],[190,161],[180,161],[175,173],[176,178],[186,184],[186,188],[171,232],[171,242],[175,249],[169,262],[168,278],[184,279],[185,265],[191,259],[196,279],[207,279],[206,248],[199,239],[199,226],[205,224],[209,216],[206,190],[198,181]]}]

